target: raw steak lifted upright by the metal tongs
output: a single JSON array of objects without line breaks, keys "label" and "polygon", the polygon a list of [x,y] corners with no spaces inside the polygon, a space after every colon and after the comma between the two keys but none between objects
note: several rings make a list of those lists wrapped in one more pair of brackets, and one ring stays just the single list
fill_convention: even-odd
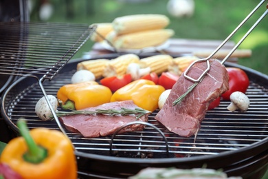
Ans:
[{"label": "raw steak lifted upright by the metal tongs", "polygon": [[[188,72],[188,76],[197,79],[206,68],[206,62],[195,63]],[[229,89],[229,76],[224,65],[211,59],[210,71],[203,81],[194,87],[181,103],[172,106],[173,101],[184,94],[192,84],[194,83],[182,74],[172,87],[166,103],[155,116],[155,119],[166,126],[169,131],[179,136],[189,137],[199,131],[200,123],[205,118],[210,103]]]}]

